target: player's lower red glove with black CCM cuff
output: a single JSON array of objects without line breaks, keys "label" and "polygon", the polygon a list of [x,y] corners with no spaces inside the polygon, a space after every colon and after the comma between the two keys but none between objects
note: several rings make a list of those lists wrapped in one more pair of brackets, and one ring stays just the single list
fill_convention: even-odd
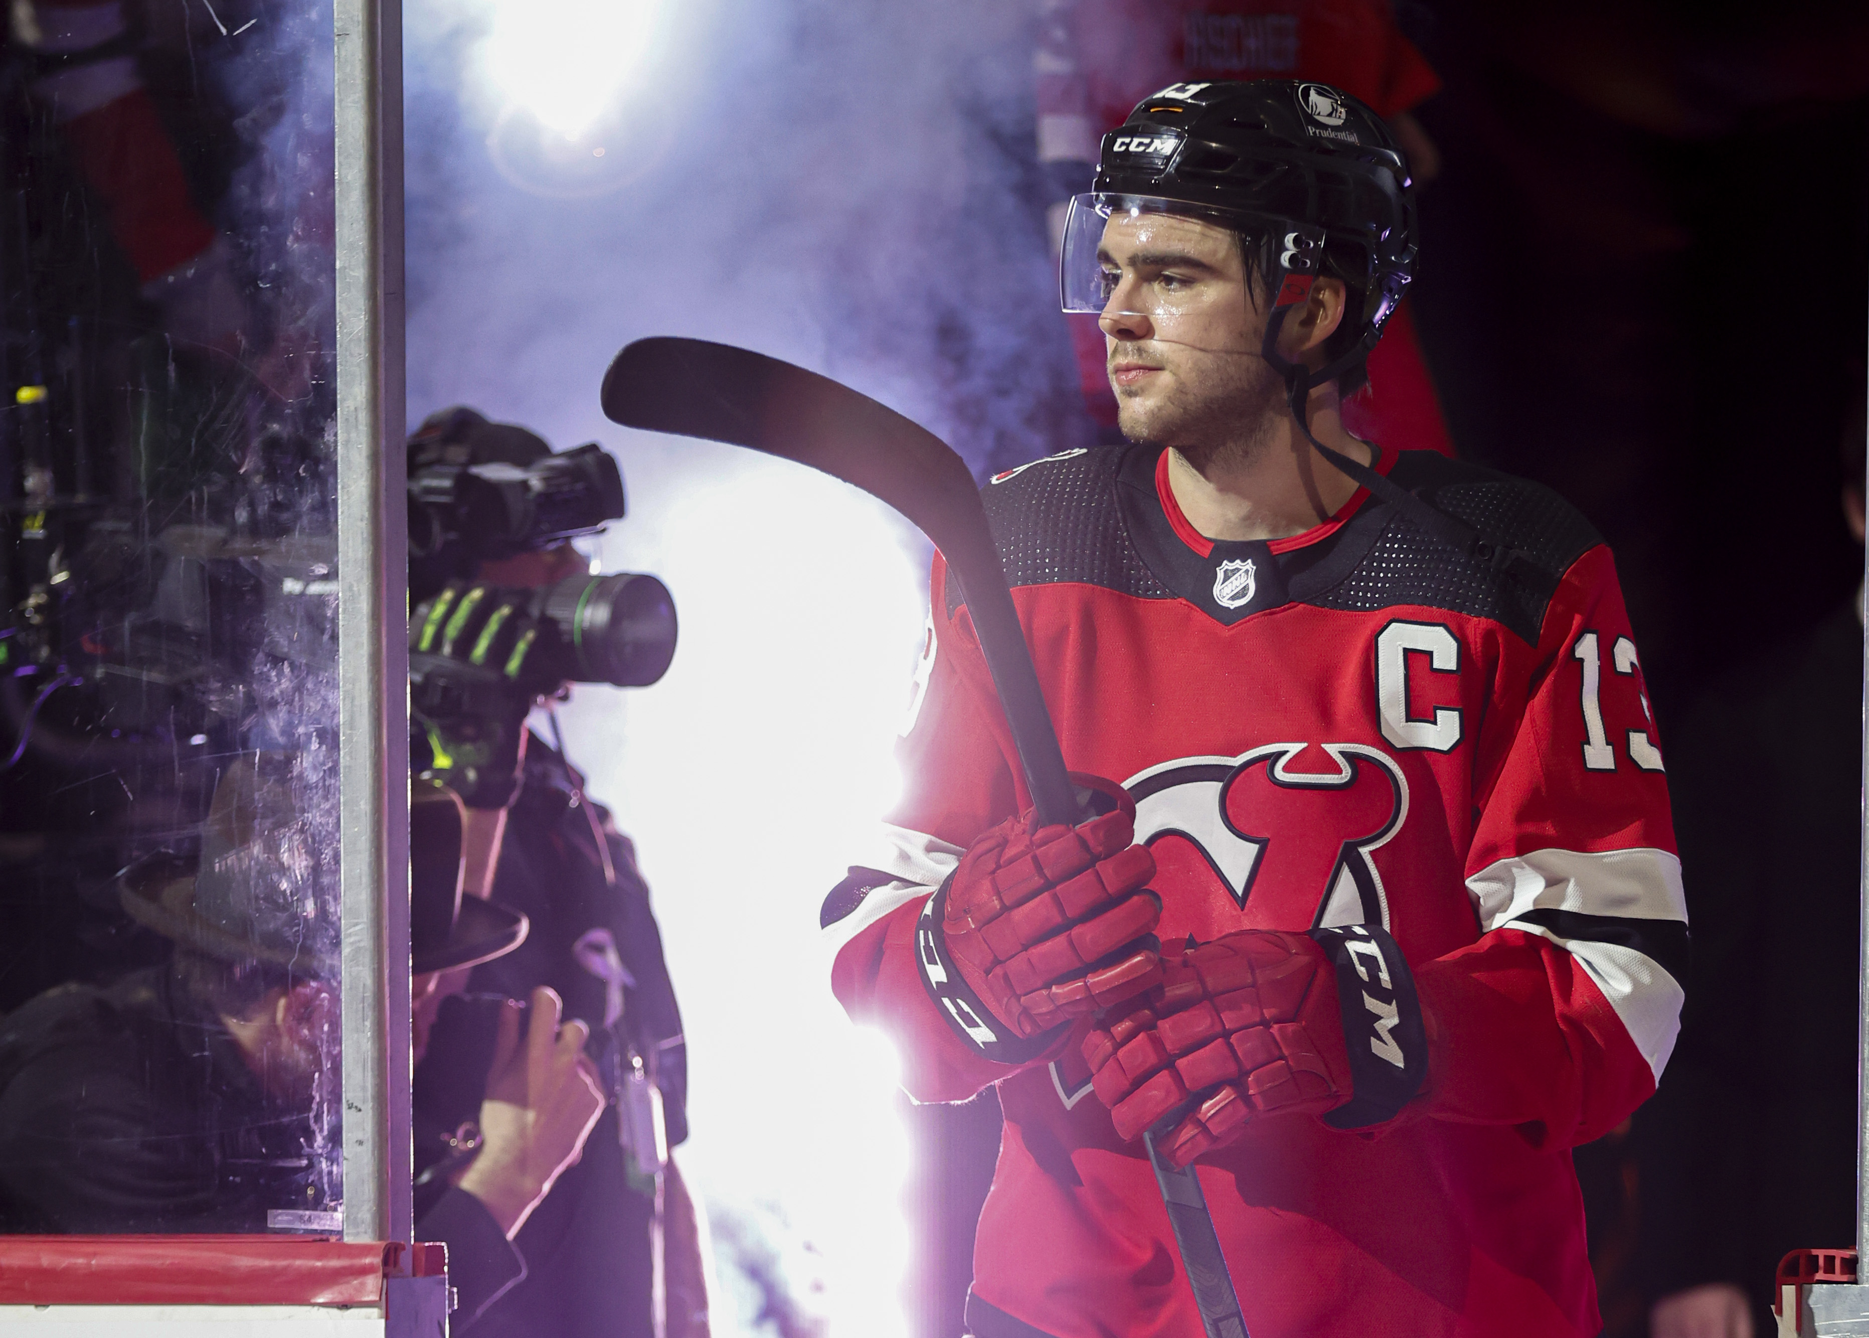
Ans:
[{"label": "player's lower red glove with black CCM cuff", "polygon": [[1161,1127],[1163,1157],[1187,1166],[1263,1116],[1392,1117],[1420,1089],[1428,1045],[1381,929],[1247,929],[1164,961],[1148,1004],[1091,1032],[1084,1060],[1116,1132]]}]

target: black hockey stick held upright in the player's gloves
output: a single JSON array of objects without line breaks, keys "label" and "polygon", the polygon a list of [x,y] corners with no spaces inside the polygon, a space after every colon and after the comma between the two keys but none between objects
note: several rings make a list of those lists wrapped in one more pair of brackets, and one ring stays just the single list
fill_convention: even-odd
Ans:
[{"label": "black hockey stick held upright in the player's gloves", "polygon": [[[961,581],[1039,820],[1077,824],[1088,817],[1065,774],[979,488],[946,441],[817,372],[690,338],[645,338],[617,353],[604,374],[604,413],[626,428],[706,437],[796,460],[912,520]],[[1155,1151],[1155,1132],[1144,1136],[1144,1146],[1207,1338],[1247,1338],[1194,1168],[1170,1168]]]}]

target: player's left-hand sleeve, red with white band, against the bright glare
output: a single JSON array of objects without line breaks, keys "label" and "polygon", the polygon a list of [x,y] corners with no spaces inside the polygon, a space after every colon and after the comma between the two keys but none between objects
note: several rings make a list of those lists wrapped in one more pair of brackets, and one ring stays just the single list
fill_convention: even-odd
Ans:
[{"label": "player's left-hand sleeve, red with white band, against the bright glare", "polygon": [[[1026,1065],[994,1063],[938,1011],[916,962],[916,918],[968,843],[1028,804],[1017,757],[966,611],[948,617],[946,564],[934,557],[929,639],[895,757],[903,800],[867,867],[826,903],[832,990],[852,1022],[878,1026],[903,1060],[916,1101],[964,1101]],[[1050,1058],[1049,1054],[1043,1058]],[[1037,1063],[1041,1060],[1032,1060]]]}]

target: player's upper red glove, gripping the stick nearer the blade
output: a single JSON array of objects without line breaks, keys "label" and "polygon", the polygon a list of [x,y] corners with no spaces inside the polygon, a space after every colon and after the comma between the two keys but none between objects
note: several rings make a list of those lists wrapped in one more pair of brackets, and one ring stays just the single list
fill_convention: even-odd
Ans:
[{"label": "player's upper red glove, gripping the stick nearer the blade", "polygon": [[[1075,828],[1032,811],[981,835],[916,927],[921,981],[981,1054],[1022,1063],[1052,1028],[1161,979],[1155,856],[1120,785],[1073,776],[1103,811]],[[1034,1043],[1035,1041],[1035,1043]]]}]

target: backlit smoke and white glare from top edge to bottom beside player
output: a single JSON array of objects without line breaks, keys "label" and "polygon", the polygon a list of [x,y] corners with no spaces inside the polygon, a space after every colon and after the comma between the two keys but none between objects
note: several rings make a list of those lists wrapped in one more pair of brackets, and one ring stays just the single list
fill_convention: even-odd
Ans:
[{"label": "backlit smoke and white glare from top edge to bottom beside player", "polygon": [[[660,574],[680,609],[662,684],[579,688],[563,716],[656,895],[716,1334],[906,1332],[893,1058],[830,1000],[817,908],[897,785],[927,544],[794,465],[624,432],[596,391],[628,340],[692,334],[847,381],[977,473],[1082,445],[1032,161],[1034,6],[635,0],[645,58],[555,136],[527,105],[576,114],[566,88],[609,75],[598,28],[581,0],[518,2],[407,7],[409,413],[602,441],[630,488],[604,566]],[[634,43],[598,36],[624,64]]]}]

